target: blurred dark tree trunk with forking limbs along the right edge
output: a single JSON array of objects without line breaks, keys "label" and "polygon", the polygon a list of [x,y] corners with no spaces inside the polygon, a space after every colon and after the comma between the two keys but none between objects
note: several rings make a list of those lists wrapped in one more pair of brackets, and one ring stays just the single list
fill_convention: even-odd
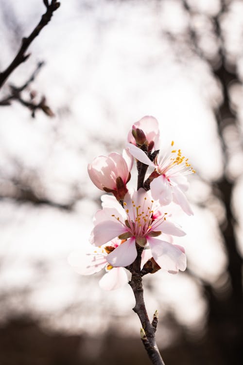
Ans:
[{"label": "blurred dark tree trunk with forking limbs along the right edge", "polygon": [[[231,108],[229,86],[232,82],[241,83],[237,74],[236,61],[227,59],[225,39],[221,26],[221,19],[227,13],[230,2],[221,0],[220,11],[211,18],[214,26],[214,34],[218,40],[218,59],[213,63],[204,55],[198,45],[196,30],[193,28],[193,21],[190,21],[189,39],[194,53],[209,64],[211,72],[216,80],[220,82],[223,92],[223,101],[214,111],[218,127],[218,134],[222,146],[224,172],[223,176],[213,185],[217,189],[226,210],[226,221],[220,225],[223,243],[227,254],[227,295],[218,296],[214,284],[202,282],[202,287],[208,300],[208,329],[207,337],[214,343],[215,349],[220,353],[223,351],[226,362],[238,364],[238,359],[243,359],[242,337],[243,337],[243,258],[237,247],[235,233],[236,219],[232,210],[232,196],[235,182],[228,177],[227,166],[229,155],[225,140],[225,128],[233,125],[238,131],[237,112]],[[193,10],[186,0],[182,0],[184,9],[190,19],[193,17]],[[240,135],[240,131],[239,131]],[[190,271],[189,271],[189,274]],[[194,276],[193,273],[191,274]]]}]

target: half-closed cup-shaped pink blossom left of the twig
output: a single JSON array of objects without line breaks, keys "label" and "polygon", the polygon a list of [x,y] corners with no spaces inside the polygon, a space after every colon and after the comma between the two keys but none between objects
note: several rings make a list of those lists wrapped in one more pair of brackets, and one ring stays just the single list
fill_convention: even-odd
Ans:
[{"label": "half-closed cup-shaped pink blossom left of the twig", "polygon": [[120,200],[127,192],[126,183],[130,180],[132,166],[133,158],[126,148],[122,155],[112,152],[96,157],[88,164],[88,175],[99,189],[112,192]]}]

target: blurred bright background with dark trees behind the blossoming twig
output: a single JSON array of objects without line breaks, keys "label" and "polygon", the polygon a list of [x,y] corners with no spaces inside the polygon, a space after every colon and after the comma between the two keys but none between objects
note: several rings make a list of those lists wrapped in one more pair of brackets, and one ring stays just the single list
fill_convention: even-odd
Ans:
[{"label": "blurred bright background with dark trees behind the blossoming twig", "polygon": [[[0,69],[44,13],[0,0]],[[149,364],[127,285],[67,263],[86,247],[99,191],[87,163],[121,152],[144,115],[190,158],[188,269],[144,277],[166,364],[243,364],[243,1],[61,0],[1,90],[45,95],[50,118],[0,106],[0,364]]]}]

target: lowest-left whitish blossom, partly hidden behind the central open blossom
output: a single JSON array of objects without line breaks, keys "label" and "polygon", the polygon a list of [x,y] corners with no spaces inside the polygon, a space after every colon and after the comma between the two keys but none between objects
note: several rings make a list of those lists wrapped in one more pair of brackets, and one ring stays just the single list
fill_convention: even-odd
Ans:
[{"label": "lowest-left whitish blossom, partly hidden behind the central open blossom", "polygon": [[113,267],[107,262],[107,255],[119,246],[121,240],[112,240],[107,245],[91,248],[87,251],[72,252],[68,256],[69,264],[81,275],[91,275],[105,269],[106,274],[99,285],[104,290],[115,290],[127,283],[127,274],[122,267]]}]

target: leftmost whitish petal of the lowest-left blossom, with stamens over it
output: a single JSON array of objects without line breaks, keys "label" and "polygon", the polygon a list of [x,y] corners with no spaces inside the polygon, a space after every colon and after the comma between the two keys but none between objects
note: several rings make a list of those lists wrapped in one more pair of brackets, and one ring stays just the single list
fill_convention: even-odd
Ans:
[{"label": "leftmost whitish petal of the lowest-left blossom, with stamens over it", "polygon": [[69,265],[81,275],[91,275],[101,271],[107,264],[106,255],[95,254],[94,250],[71,252],[68,256]]}]

